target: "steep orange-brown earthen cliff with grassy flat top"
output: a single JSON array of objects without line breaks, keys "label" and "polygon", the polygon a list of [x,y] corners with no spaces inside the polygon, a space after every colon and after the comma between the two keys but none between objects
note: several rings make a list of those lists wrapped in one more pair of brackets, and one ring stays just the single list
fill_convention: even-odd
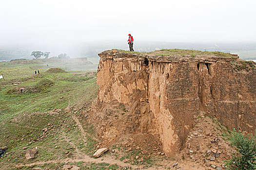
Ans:
[{"label": "steep orange-brown earthen cliff with grassy flat top", "polygon": [[[228,128],[256,127],[256,65],[221,52],[103,51],[97,83],[98,134],[159,136],[166,154],[185,145],[199,112]],[[120,110],[122,113],[119,114]]]}]

